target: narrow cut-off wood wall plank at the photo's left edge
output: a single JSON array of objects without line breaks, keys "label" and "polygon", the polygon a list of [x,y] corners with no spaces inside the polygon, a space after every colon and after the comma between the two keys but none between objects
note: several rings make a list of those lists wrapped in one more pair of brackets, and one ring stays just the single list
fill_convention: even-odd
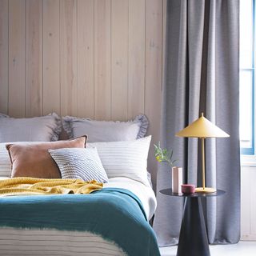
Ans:
[{"label": "narrow cut-off wood wall plank at the photo's left edge", "polygon": [[8,0],[0,1],[0,113],[8,113]]}]

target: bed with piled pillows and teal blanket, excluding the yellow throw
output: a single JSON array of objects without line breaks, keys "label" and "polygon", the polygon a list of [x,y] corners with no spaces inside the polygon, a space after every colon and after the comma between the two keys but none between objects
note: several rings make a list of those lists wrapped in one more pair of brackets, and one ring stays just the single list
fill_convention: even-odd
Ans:
[{"label": "bed with piled pillows and teal blanket, excluding the yellow throw", "polygon": [[[139,115],[131,122],[62,120],[70,138],[89,135],[86,149],[84,138],[56,146],[62,143],[55,142],[62,126],[56,114],[39,118],[0,114],[0,179],[94,179],[102,182],[103,188],[90,194],[0,197],[0,255],[160,255],[148,223],[156,209],[156,198],[146,171],[151,139],[143,138],[146,117]],[[41,153],[45,162],[34,162]],[[71,163],[63,162],[63,156]],[[57,166],[53,166],[53,159]],[[49,161],[55,173],[45,172]],[[78,175],[80,170],[82,176]]]}]

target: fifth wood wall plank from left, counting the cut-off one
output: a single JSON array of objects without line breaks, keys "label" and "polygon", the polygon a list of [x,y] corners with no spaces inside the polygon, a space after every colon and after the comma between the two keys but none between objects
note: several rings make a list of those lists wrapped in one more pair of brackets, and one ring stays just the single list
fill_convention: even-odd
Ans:
[{"label": "fifth wood wall plank from left, counting the cut-off one", "polygon": [[61,114],[77,115],[77,1],[60,1]]}]

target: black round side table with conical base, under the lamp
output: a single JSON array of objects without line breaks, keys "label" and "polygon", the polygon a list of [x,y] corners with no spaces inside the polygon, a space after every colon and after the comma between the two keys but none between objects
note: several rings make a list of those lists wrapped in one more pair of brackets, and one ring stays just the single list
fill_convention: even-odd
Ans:
[{"label": "black round side table with conical base, under the lamp", "polygon": [[226,192],[217,190],[215,193],[178,194],[173,193],[171,189],[166,189],[160,190],[160,193],[172,197],[186,198],[177,256],[210,256],[201,198],[216,197]]}]

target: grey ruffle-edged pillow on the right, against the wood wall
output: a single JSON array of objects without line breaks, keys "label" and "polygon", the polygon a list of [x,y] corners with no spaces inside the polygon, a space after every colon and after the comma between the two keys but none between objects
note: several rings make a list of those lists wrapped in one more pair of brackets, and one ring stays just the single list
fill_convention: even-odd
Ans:
[{"label": "grey ruffle-edged pillow on the right, against the wood wall", "polygon": [[88,142],[132,141],[143,138],[148,127],[146,115],[140,114],[133,121],[96,121],[90,118],[62,118],[63,127],[70,138],[87,134]]}]

